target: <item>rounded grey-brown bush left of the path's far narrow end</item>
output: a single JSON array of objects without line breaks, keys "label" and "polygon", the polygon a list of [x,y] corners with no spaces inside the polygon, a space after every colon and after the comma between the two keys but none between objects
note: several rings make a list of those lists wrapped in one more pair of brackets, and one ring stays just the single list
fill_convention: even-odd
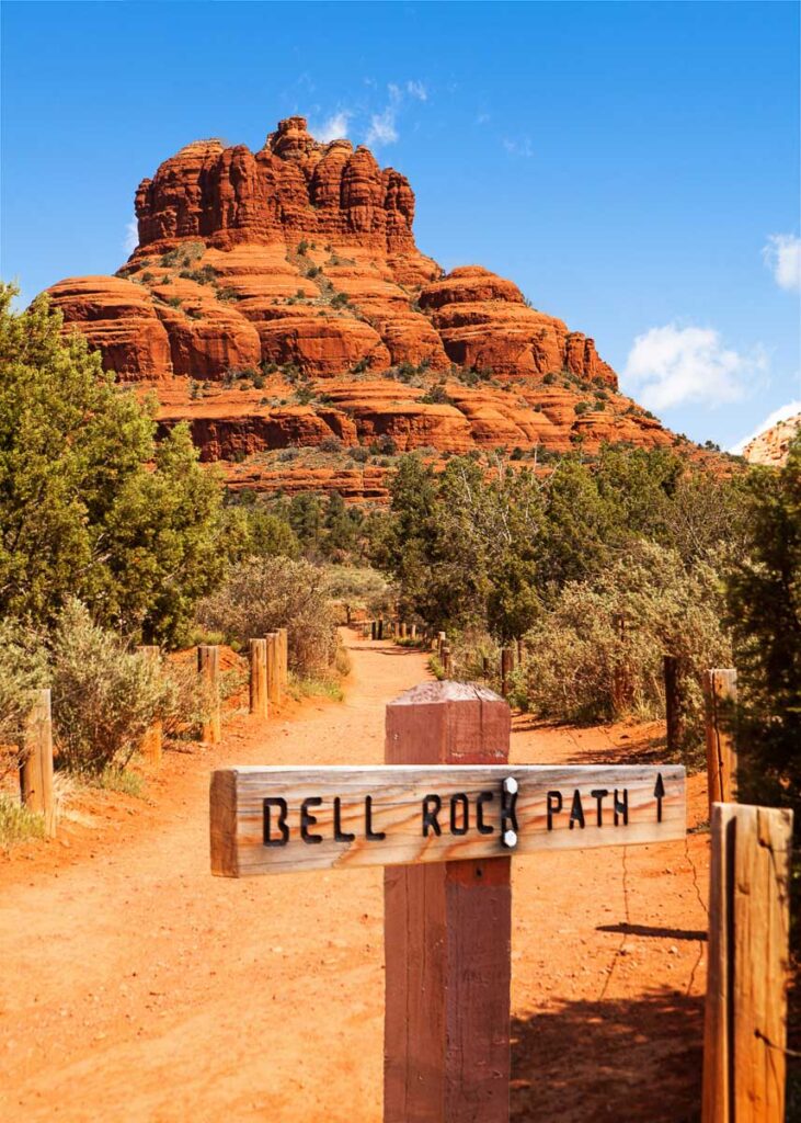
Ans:
[{"label": "rounded grey-brown bush left of the path's far narrow end", "polygon": [[289,667],[300,675],[324,673],[334,663],[337,627],[325,572],[305,560],[240,563],[217,593],[201,601],[197,621],[242,646],[254,636],[286,628]]}]

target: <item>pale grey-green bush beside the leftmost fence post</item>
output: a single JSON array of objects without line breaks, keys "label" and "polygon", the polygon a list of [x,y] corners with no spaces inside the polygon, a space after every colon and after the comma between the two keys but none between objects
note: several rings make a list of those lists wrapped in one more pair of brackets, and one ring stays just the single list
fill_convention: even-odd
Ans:
[{"label": "pale grey-green bush beside the leftmost fence post", "polygon": [[62,764],[76,772],[123,768],[167,700],[158,664],[128,650],[70,601],[52,639],[55,741]]}]

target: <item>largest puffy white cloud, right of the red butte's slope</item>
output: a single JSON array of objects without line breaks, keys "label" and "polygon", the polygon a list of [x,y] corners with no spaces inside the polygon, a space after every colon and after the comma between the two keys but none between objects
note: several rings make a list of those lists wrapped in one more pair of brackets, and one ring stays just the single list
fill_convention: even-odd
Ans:
[{"label": "largest puffy white cloud, right of the red butte's slope", "polygon": [[694,402],[719,405],[745,396],[747,383],[767,371],[764,348],[739,354],[725,347],[713,328],[666,323],[637,336],[628,353],[624,381],[648,409]]}]

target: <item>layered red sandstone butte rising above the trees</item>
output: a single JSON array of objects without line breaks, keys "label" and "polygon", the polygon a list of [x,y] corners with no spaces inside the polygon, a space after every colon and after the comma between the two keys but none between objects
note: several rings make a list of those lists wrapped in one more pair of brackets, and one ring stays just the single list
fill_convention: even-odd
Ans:
[{"label": "layered red sandstone butte rising above the trees", "polygon": [[[444,274],[408,181],[302,117],[261,149],[199,140],[136,193],[116,276],[49,290],[123,382],[188,419],[236,486],[380,497],[392,456],[675,444],[592,339],[476,265]],[[293,451],[300,450],[300,451]]]}]

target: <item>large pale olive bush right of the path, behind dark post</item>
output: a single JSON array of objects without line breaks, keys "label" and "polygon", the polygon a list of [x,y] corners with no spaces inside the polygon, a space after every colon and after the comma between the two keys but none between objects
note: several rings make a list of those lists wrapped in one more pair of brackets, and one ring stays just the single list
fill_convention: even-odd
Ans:
[{"label": "large pale olive bush right of the path, behind dark post", "polygon": [[720,588],[703,562],[634,542],[592,581],[564,586],[526,634],[518,701],[543,716],[601,721],[664,712],[663,657],[679,659],[689,741],[701,733],[702,674],[728,666]]}]

